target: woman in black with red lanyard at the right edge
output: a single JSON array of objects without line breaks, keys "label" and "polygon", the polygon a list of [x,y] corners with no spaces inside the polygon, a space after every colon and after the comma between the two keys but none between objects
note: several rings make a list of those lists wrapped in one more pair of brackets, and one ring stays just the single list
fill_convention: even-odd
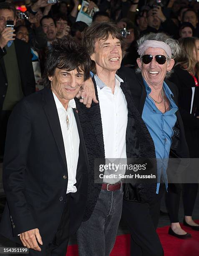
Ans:
[{"label": "woman in black with red lanyard at the right edge", "polygon": [[[179,110],[184,123],[186,141],[190,158],[199,158],[199,38],[179,39],[181,55],[176,60],[174,74],[170,80],[179,90]],[[196,170],[198,172],[198,170]],[[183,191],[184,225],[199,230],[199,225],[192,219],[198,184],[169,184],[166,205],[169,211],[171,227],[169,234],[178,238],[190,238],[179,224],[179,201]]]}]

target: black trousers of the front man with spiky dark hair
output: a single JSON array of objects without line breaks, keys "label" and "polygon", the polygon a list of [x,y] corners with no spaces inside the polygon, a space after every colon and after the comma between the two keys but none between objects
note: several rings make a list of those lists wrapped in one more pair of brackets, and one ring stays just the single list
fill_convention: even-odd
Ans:
[{"label": "black trousers of the front man with spiky dark hair", "polygon": [[[53,220],[52,220],[53,221]],[[50,223],[49,223],[50,225]],[[66,196],[65,206],[61,216],[60,224],[53,241],[48,245],[39,245],[41,251],[29,249],[31,256],[65,256],[69,241],[69,227],[70,227],[70,193]],[[19,246],[19,245],[18,245]],[[20,245],[21,247],[21,245]]]}]

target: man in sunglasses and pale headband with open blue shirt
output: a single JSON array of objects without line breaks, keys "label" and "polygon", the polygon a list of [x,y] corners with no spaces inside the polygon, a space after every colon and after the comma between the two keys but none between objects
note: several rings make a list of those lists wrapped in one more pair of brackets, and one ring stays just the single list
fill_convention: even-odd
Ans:
[{"label": "man in sunglasses and pale headband with open blue shirt", "polygon": [[[130,89],[135,105],[154,142],[158,175],[156,197],[146,203],[126,200],[125,191],[129,190],[129,184],[125,184],[123,217],[131,230],[131,255],[161,256],[164,252],[156,228],[161,197],[168,187],[166,170],[169,156],[189,157],[184,127],[177,107],[178,91],[166,79],[180,48],[174,39],[164,33],[144,35],[139,39],[138,46],[140,58],[137,59],[137,73],[124,68],[118,74],[131,81]],[[147,195],[150,198],[149,192]]]}]

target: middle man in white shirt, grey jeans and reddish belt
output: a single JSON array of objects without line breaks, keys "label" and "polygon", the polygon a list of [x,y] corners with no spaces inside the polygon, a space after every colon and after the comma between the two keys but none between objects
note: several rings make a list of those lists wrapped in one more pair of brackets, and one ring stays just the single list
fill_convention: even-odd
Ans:
[{"label": "middle man in white shirt, grey jeans and reddish belt", "polygon": [[[126,159],[128,109],[121,89],[123,80],[116,74],[123,45],[113,23],[92,23],[83,34],[83,44],[96,64],[96,70],[92,71],[99,104],[93,102],[86,110],[78,103],[90,163],[86,212],[77,232],[78,251],[80,256],[109,256],[121,218],[123,187],[119,177],[96,184],[94,161]],[[121,172],[124,174],[125,170]]]}]

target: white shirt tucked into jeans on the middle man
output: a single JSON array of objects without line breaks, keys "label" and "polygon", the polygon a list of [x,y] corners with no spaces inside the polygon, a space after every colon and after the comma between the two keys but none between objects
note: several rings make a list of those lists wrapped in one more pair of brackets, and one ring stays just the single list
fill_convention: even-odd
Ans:
[{"label": "white shirt tucked into jeans on the middle man", "polygon": [[[106,86],[97,75],[94,76],[101,111],[103,141],[106,159],[115,159],[114,163],[126,164],[126,127],[128,121],[128,109],[126,98],[121,90],[120,83],[123,80],[116,77],[114,93]],[[125,173],[120,170],[121,174]],[[106,174],[106,172],[105,172]],[[106,183],[116,183],[120,179],[103,179]]]}]

